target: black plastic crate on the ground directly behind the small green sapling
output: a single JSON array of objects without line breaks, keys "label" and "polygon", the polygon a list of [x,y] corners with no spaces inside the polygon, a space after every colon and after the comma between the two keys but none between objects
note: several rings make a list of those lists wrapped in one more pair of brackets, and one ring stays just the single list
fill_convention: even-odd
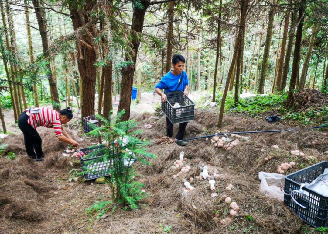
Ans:
[{"label": "black plastic crate on the ground directly behind the small green sapling", "polygon": [[[108,176],[110,170],[109,160],[104,161],[104,155],[107,148],[104,145],[98,145],[95,147],[80,149],[85,156],[81,156],[82,172],[87,169],[92,169],[92,172],[84,173],[85,180],[96,179],[104,176]],[[98,152],[97,152],[98,151]]]}]

